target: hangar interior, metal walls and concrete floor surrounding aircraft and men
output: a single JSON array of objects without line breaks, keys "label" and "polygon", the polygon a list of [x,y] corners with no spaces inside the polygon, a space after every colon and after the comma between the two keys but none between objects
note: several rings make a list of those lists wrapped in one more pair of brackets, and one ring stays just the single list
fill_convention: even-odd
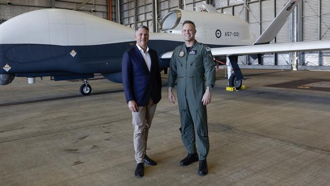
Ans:
[{"label": "hangar interior, metal walls and concrete floor surrounding aircraft and men", "polygon": [[[0,21],[62,8],[160,32],[160,19],[168,12],[200,10],[209,3],[248,21],[258,37],[285,2],[0,0]],[[329,1],[301,1],[273,42],[329,40],[328,10]],[[82,96],[78,80],[28,84],[16,77],[0,86],[0,185],[329,185],[328,51],[262,59],[259,65],[249,56],[240,58],[244,90],[226,91],[225,71],[218,71],[207,106],[209,173],[203,177],[197,162],[180,166],[187,151],[178,103],[167,100],[166,74],[161,74],[162,99],[148,136],[147,153],[157,165],[146,165],[141,179],[134,176],[134,130],[122,84],[96,75],[90,81],[93,93]]]}]

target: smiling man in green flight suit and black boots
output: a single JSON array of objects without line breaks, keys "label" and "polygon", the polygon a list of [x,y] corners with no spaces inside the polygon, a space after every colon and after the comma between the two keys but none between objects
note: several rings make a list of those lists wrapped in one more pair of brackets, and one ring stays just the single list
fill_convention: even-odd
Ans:
[{"label": "smiling man in green flight suit and black boots", "polygon": [[[211,49],[195,40],[196,28],[192,21],[182,23],[183,45],[175,48],[168,80],[168,100],[175,103],[172,92],[178,79],[177,95],[181,117],[181,138],[188,156],[181,166],[200,161],[199,175],[208,173],[206,157],[209,152],[206,105],[211,102],[215,81],[215,63]],[[206,77],[206,83],[204,78]],[[195,134],[200,156],[197,154]]]}]

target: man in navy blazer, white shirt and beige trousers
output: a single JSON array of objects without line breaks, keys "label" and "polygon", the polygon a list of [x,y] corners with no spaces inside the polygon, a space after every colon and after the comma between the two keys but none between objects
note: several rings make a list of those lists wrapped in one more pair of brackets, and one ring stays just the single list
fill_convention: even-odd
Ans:
[{"label": "man in navy blazer, white shirt and beige trousers", "polygon": [[141,25],[135,32],[137,44],[122,58],[122,80],[128,108],[132,112],[136,177],[144,175],[144,163],[156,165],[146,155],[148,131],[161,99],[161,78],[156,51],[148,48],[149,29]]}]

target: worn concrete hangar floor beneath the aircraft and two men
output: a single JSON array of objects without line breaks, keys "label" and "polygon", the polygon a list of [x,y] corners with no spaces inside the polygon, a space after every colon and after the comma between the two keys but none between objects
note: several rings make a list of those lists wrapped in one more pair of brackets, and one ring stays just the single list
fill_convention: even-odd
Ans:
[{"label": "worn concrete hangar floor beneath the aircraft and two men", "polygon": [[163,87],[147,150],[158,165],[141,179],[121,84],[96,78],[82,97],[78,81],[16,78],[0,87],[0,185],[329,185],[330,72],[243,74],[240,91],[217,74],[204,177],[198,163],[180,167],[178,106]]}]

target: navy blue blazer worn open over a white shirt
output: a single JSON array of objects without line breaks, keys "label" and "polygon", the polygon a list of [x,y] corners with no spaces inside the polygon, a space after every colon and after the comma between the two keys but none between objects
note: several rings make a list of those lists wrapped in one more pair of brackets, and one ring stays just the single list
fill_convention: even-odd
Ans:
[{"label": "navy blue blazer worn open over a white shirt", "polygon": [[138,106],[147,106],[150,98],[156,104],[161,99],[161,77],[157,52],[149,48],[150,72],[139,50],[134,45],[122,57],[122,83],[126,102],[135,100]]}]

